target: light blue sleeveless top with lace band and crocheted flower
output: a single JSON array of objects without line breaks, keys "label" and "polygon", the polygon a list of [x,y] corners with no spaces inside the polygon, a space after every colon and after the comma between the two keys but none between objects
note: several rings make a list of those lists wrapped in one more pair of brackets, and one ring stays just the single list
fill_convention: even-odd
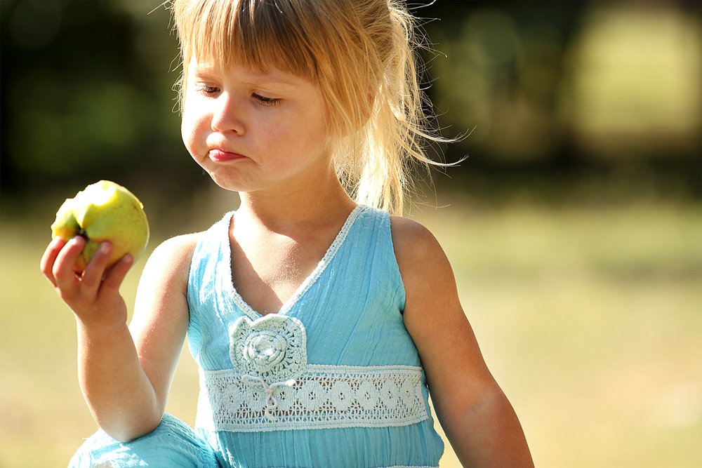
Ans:
[{"label": "light blue sleeveless top with lace band and crocheted flower", "polygon": [[183,445],[204,442],[204,452],[147,466],[206,466],[210,456],[222,467],[438,466],[444,445],[402,320],[388,213],[353,210],[314,272],[266,316],[232,284],[232,216],[201,236],[188,282],[200,395]]}]

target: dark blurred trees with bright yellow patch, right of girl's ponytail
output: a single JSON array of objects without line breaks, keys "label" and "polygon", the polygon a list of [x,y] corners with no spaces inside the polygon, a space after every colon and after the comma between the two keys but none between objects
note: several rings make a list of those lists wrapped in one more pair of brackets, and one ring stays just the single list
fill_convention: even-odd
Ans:
[{"label": "dark blurred trees with bright yellow patch, right of girl's ponytail", "polygon": [[699,196],[701,2],[437,1],[417,11],[439,18],[425,24],[438,51],[429,93],[447,136],[470,132],[451,148],[471,156],[466,172],[652,171]]}]

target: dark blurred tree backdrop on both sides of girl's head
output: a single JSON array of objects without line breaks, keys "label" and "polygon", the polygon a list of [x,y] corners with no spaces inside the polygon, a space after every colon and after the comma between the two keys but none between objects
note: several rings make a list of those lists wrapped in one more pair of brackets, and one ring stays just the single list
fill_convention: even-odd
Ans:
[{"label": "dark blurred tree backdrop on both sides of girl's head", "polygon": [[[409,7],[437,51],[425,60],[439,125],[470,133],[449,146],[449,161],[470,156],[454,180],[624,164],[668,171],[699,196],[701,2]],[[170,29],[161,0],[0,1],[3,192],[97,178],[203,185],[173,112]]]}]

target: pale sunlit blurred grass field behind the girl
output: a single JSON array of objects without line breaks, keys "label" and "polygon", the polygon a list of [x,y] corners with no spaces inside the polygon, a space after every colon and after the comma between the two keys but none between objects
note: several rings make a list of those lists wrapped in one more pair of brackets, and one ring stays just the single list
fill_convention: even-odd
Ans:
[{"label": "pale sunlit blurred grass field behind the girl", "polygon": [[[537,466],[702,466],[700,206],[466,204],[416,218],[451,259]],[[38,269],[46,221],[1,226],[0,467],[65,466],[95,429],[74,320]],[[196,396],[183,354],[168,411],[192,424]],[[441,466],[459,466],[449,447]]]}]

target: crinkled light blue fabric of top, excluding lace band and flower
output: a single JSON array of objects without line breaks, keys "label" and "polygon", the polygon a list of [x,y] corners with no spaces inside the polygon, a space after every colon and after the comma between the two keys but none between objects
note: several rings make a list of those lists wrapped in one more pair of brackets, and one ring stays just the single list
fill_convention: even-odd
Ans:
[{"label": "crinkled light blue fabric of top, excluding lace band and flower", "polygon": [[[303,324],[309,368],[416,369],[423,417],[411,423],[390,417],[383,424],[385,416],[371,410],[369,421],[345,421],[342,414],[335,416],[340,420],[338,427],[326,427],[329,422],[325,422],[320,429],[305,428],[315,423],[306,422],[302,411],[297,420],[289,417],[295,421],[281,423],[279,429],[260,431],[252,420],[250,427],[239,421],[236,430],[218,430],[218,413],[232,401],[235,406],[241,402],[231,397],[222,403],[227,395],[206,389],[203,374],[231,370],[237,375],[230,349],[232,324],[262,320],[232,284],[228,236],[232,217],[235,222],[235,213],[227,213],[201,238],[188,285],[190,351],[201,368],[196,430],[216,450],[220,463],[232,467],[437,466],[444,445],[434,429],[418,352],[402,319],[405,292],[392,246],[390,216],[367,206],[351,213],[324,259],[278,314]],[[299,377],[304,380],[305,374]],[[398,387],[402,385],[390,385],[399,392]],[[259,390],[263,394],[263,388]]]}]

